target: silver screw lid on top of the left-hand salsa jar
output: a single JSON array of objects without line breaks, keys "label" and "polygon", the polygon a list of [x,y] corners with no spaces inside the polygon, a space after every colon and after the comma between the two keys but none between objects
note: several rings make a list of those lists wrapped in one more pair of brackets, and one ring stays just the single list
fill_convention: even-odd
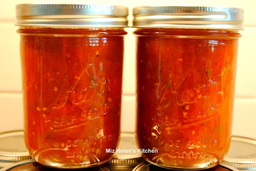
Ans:
[{"label": "silver screw lid on top of the left-hand salsa jar", "polygon": [[16,26],[127,27],[124,6],[82,4],[18,4]]}]

